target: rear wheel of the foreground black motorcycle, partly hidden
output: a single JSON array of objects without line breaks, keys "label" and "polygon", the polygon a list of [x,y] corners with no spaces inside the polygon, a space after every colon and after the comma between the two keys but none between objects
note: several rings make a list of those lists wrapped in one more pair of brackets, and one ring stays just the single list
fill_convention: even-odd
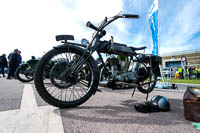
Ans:
[{"label": "rear wheel of the foreground black motorcycle, partly hidden", "polygon": [[157,82],[157,76],[155,73],[152,73],[151,76],[149,76],[145,81],[139,82],[138,90],[142,93],[150,93],[153,91],[155,85]]}]

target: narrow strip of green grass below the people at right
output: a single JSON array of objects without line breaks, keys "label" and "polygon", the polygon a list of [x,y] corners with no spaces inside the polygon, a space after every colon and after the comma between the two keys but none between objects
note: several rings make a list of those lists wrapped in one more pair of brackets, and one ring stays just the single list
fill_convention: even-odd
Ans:
[{"label": "narrow strip of green grass below the people at right", "polygon": [[[160,80],[162,82],[162,80]],[[170,83],[186,83],[186,84],[200,84],[200,79],[175,79],[175,78],[170,78],[166,80],[166,82]]]}]

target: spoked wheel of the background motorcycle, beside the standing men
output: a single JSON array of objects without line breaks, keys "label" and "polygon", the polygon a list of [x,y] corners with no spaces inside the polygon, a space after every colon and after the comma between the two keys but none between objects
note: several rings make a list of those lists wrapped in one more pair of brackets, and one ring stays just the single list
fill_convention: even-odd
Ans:
[{"label": "spoked wheel of the background motorcycle, beside the standing men", "polygon": [[30,82],[33,80],[33,71],[29,65],[21,65],[17,68],[15,76],[21,82]]}]

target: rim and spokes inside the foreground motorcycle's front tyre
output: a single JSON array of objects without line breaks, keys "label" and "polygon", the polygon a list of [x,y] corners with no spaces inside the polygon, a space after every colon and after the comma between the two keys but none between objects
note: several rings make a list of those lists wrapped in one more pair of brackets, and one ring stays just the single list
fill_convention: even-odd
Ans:
[{"label": "rim and spokes inside the foreground motorcycle's front tyre", "polygon": [[[87,95],[93,84],[93,71],[89,63],[81,67],[76,75],[71,70],[81,57],[76,53],[56,53],[46,62],[43,71],[43,85],[48,94],[62,102],[74,102]],[[69,69],[67,71],[67,68]]]}]

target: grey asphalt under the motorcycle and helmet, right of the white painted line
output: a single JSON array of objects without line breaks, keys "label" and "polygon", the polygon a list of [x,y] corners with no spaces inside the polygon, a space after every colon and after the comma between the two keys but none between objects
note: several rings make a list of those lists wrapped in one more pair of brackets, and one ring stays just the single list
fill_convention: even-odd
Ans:
[{"label": "grey asphalt under the motorcycle and helmet, right of the white painted line", "polygon": [[103,89],[77,108],[61,109],[65,133],[197,133],[184,119],[184,91],[155,89],[149,97],[167,97],[171,111],[140,113],[134,104],[144,102],[144,94]]}]

